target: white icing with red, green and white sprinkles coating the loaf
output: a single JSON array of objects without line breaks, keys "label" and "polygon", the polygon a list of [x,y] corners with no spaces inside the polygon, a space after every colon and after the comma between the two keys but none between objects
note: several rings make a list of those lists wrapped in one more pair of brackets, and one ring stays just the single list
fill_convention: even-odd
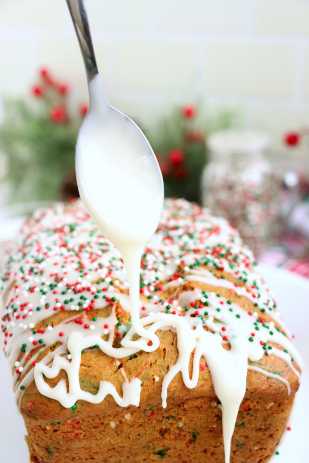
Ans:
[{"label": "white icing with red, green and white sprinkles coating the loaf", "polygon": [[[221,401],[225,459],[229,461],[247,369],[283,382],[290,393],[285,378],[248,360],[257,362],[267,352],[283,359],[299,376],[295,363],[301,367],[301,359],[273,296],[254,271],[251,252],[225,220],[184,200],[166,200],[158,230],[143,252],[141,268],[135,269],[140,274],[140,297],[131,291],[130,298],[131,281],[127,281],[120,252],[97,230],[80,201],[40,209],[25,223],[2,271],[4,350],[15,369],[16,400],[21,403],[25,388],[34,379],[42,394],[63,407],[72,407],[76,400],[99,403],[107,394],[121,407],[138,406],[141,382],[134,377],[128,380],[124,369],[122,397],[108,381],[100,382],[95,395],[82,390],[82,350],[96,346],[121,359],[140,350],[155,350],[156,331],[172,330],[177,333],[179,356],[163,378],[163,407],[168,405],[168,388],[178,372],[187,388],[196,386],[203,357]],[[124,255],[124,261],[128,259]],[[190,288],[197,282],[207,290],[188,289],[187,285]],[[219,288],[246,298],[252,309],[223,297]],[[132,296],[135,301],[130,308]],[[116,306],[122,313],[131,313],[131,323],[121,324]],[[96,310],[101,312],[90,315]],[[55,313],[66,314],[66,318],[58,325],[45,322]],[[141,337],[133,341],[136,334]],[[152,345],[148,345],[150,340]],[[55,343],[57,348],[35,363]],[[60,369],[68,375],[69,392],[63,381],[51,388],[44,380],[44,376],[55,378]]]}]

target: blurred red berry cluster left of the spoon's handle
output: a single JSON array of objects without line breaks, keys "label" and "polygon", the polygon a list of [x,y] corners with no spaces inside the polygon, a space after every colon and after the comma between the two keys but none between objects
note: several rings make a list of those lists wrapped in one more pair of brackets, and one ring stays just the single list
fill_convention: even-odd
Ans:
[{"label": "blurred red berry cluster left of the spoon's handle", "polygon": [[[55,124],[66,124],[70,122],[67,97],[70,86],[67,83],[54,79],[46,68],[39,69],[39,82],[31,89],[34,98],[42,99],[48,106],[48,116]],[[83,118],[88,111],[88,105],[79,106],[79,115]]]}]

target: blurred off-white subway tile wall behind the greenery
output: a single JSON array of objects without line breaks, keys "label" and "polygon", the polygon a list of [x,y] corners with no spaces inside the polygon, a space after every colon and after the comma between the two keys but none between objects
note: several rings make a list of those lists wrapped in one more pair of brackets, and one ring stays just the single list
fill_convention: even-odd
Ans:
[{"label": "blurred off-white subway tile wall behind the greenery", "polygon": [[[86,0],[109,100],[142,126],[175,103],[240,108],[245,126],[309,125],[309,0]],[[42,66],[71,84],[86,78],[65,0],[1,1],[2,98],[28,95]],[[308,154],[303,146],[293,156]]]}]

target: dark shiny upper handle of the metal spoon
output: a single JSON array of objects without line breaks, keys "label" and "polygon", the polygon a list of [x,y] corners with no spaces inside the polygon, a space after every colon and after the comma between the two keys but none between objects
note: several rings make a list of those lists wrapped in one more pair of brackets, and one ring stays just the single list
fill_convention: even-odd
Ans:
[{"label": "dark shiny upper handle of the metal spoon", "polygon": [[69,12],[72,17],[79,45],[82,50],[82,57],[86,68],[88,83],[99,73],[95,52],[90,35],[90,28],[87,18],[84,0],[67,0]]}]

